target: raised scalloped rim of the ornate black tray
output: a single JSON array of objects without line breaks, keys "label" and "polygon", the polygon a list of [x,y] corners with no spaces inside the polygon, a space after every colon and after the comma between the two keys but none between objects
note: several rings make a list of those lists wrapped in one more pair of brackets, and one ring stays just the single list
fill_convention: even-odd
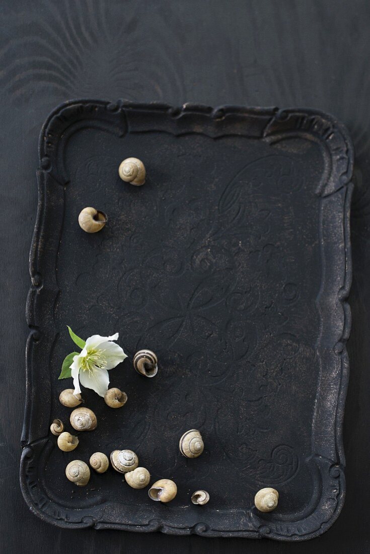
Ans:
[{"label": "raised scalloped rim of the ornate black tray", "polygon": [[[195,132],[210,137],[230,134],[228,129],[234,126],[240,136],[263,139],[270,143],[279,140],[281,132],[284,132],[284,135],[289,133],[292,136],[304,136],[315,142],[320,142],[326,151],[327,163],[325,178],[316,192],[318,196],[327,199],[330,199],[334,193],[339,191],[344,194],[344,212],[341,222],[344,240],[341,242],[340,237],[337,236],[326,237],[326,242],[322,241],[321,244],[322,259],[325,260],[327,249],[337,248],[342,255],[342,265],[345,266],[343,282],[340,288],[336,290],[336,307],[342,310],[343,325],[338,331],[337,340],[331,349],[331,356],[340,358],[341,366],[340,375],[337,376],[339,382],[337,383],[336,409],[334,412],[322,410],[320,397],[322,398],[325,395],[325,387],[324,390],[321,390],[321,387],[318,386],[315,423],[312,425],[312,463],[316,464],[321,473],[325,471],[328,479],[326,483],[322,483],[322,494],[321,496],[318,495],[320,497],[317,497],[314,510],[303,520],[296,521],[294,524],[290,521],[287,521],[286,524],[282,522],[274,524],[271,520],[266,519],[264,521],[263,517],[255,514],[250,514],[251,521],[255,522],[255,530],[237,531],[213,530],[202,522],[193,527],[184,528],[169,526],[158,520],[148,521],[146,525],[101,521],[88,513],[89,508],[84,513],[80,509],[73,510],[59,505],[54,499],[48,497],[47,491],[43,489],[42,481],[39,479],[38,459],[45,455],[45,450],[48,450],[49,439],[48,433],[45,433],[45,429],[43,429],[45,425],[39,423],[40,420],[42,421],[38,417],[40,408],[34,399],[32,355],[34,346],[43,338],[38,318],[40,301],[44,294],[52,295],[55,301],[59,293],[55,270],[52,279],[53,286],[49,286],[47,290],[43,288],[44,275],[48,271],[53,271],[52,265],[45,258],[42,248],[45,182],[52,179],[52,181],[62,186],[68,182],[68,175],[66,175],[63,164],[63,148],[69,137],[83,128],[86,122],[91,124],[91,121],[94,120],[95,127],[110,132],[113,130],[113,132],[122,135],[128,128],[140,131],[135,127],[135,113],[141,111],[146,111],[150,115],[152,124],[153,122],[158,124],[158,116],[167,117],[166,130],[174,135],[181,135],[183,132],[189,131],[194,121],[201,121],[202,131]],[[174,120],[176,120],[176,126],[173,125]],[[215,121],[217,121],[217,124],[215,124]],[[162,531],[176,535],[197,534],[208,537],[244,536],[260,538],[269,536],[282,541],[307,540],[325,532],[337,519],[345,499],[345,476],[343,473],[345,456],[342,445],[342,420],[349,370],[346,341],[351,328],[351,312],[346,299],[350,291],[352,278],[349,213],[353,169],[353,147],[345,127],[332,116],[309,109],[279,110],[277,108],[261,109],[227,105],[212,109],[209,106],[193,104],[173,107],[160,103],[136,104],[122,100],[114,103],[101,100],[71,100],[56,107],[45,121],[39,140],[39,162],[40,166],[37,171],[39,186],[38,211],[29,261],[32,283],[26,308],[30,332],[26,347],[26,399],[21,439],[23,452],[20,461],[20,488],[30,510],[44,521],[69,529],[95,527],[96,529],[121,529],[138,532]],[[63,221],[63,216],[61,216],[61,221]],[[329,238],[331,239],[330,243],[327,242]],[[335,271],[335,268],[331,268],[331,271],[331,281],[328,284],[326,283],[329,288],[340,277],[339,270]],[[321,283],[323,284],[323,281]],[[324,292],[321,291],[317,300],[319,310],[320,306],[327,301],[324,296]],[[330,328],[330,322],[326,323],[326,326]],[[323,322],[322,327],[324,329],[321,331],[321,336],[325,335]],[[49,377],[48,371],[46,373]],[[45,384],[45,396],[47,396],[49,387],[50,382]],[[46,414],[50,412],[47,404],[45,402],[42,407],[42,412]],[[45,420],[49,423],[49,416],[45,417]],[[334,434],[327,438],[326,430],[330,426],[334,429]],[[46,427],[48,429],[48,425]],[[334,484],[337,488],[336,495],[332,492]],[[73,514],[73,512],[77,512],[77,514]]]}]

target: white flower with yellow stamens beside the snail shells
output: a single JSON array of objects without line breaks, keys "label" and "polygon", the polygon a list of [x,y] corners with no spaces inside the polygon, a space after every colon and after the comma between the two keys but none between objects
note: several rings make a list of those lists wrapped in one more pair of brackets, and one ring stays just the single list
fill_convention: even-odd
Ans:
[{"label": "white flower with yellow stamens beside the snail shells", "polygon": [[127,358],[122,348],[112,342],[117,338],[118,333],[111,337],[93,335],[86,340],[83,350],[74,356],[70,366],[74,394],[81,392],[81,383],[86,388],[92,388],[99,396],[104,396],[109,385],[107,370],[112,370]]}]

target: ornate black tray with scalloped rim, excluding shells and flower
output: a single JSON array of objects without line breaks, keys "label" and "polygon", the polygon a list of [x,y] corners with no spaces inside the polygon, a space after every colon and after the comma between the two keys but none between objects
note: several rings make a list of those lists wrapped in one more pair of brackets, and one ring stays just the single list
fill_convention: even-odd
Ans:
[{"label": "ornate black tray with scalloped rim, excluding shells and flower", "polygon": [[[117,173],[147,168],[143,187]],[[212,110],[71,101],[40,137],[39,206],[30,253],[27,401],[20,481],[30,509],[62,527],[302,540],[321,534],[345,496],[342,417],[351,281],[348,218],[353,152],[343,126],[311,110]],[[81,208],[109,222],[84,233]],[[49,433],[68,423],[58,381],[84,338],[120,332],[129,354],[110,372],[129,401],[98,419],[77,450]],[[151,348],[153,379],[132,368]],[[198,428],[205,452],[183,458]],[[67,428],[69,426],[67,425]],[[72,459],[135,450],[178,495],[153,502],[110,468],[88,486],[65,479]],[[280,493],[262,514],[254,494]],[[194,506],[190,494],[208,490]]]}]

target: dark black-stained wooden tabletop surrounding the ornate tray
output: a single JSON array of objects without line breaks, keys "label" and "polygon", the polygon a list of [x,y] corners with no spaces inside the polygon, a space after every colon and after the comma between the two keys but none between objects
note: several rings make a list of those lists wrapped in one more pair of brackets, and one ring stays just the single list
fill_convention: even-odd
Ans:
[{"label": "dark black-stained wooden tabletop surrounding the ornate tray", "polygon": [[[3,0],[0,4],[0,551],[370,552],[370,2],[368,0]],[[66,531],[19,490],[24,306],[45,117],[71,98],[176,105],[313,107],[342,120],[357,155],[352,209],[347,499],[330,531],[267,540]],[[40,397],[42,392],[40,392]]]}]

